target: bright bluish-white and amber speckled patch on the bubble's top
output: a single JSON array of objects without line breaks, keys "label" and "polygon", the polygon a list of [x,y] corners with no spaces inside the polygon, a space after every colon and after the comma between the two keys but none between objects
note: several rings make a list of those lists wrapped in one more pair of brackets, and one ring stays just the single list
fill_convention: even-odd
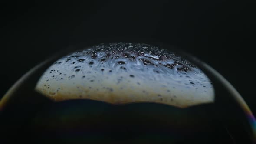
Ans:
[{"label": "bright bluish-white and amber speckled patch on the bubble's top", "polygon": [[143,43],[103,43],[72,52],[44,72],[36,91],[53,101],[156,102],[178,108],[214,101],[213,86],[200,69]]}]

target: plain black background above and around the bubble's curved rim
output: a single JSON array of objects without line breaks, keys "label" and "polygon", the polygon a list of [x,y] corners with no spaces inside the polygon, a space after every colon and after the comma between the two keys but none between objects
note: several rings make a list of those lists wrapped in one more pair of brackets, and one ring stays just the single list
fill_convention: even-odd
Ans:
[{"label": "plain black background above and around the bubble's curved rim", "polygon": [[256,114],[253,1],[8,2],[1,10],[0,96],[67,46],[139,39],[167,43],[202,59]]}]

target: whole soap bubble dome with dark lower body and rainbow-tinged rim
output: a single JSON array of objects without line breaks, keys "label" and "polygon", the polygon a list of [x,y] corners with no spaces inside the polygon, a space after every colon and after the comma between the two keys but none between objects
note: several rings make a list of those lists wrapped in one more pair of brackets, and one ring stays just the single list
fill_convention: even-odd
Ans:
[{"label": "whole soap bubble dome with dark lower body and rainbow-tinged rim", "polygon": [[102,43],[62,55],[49,66],[41,64],[17,83],[0,101],[3,140],[38,144],[255,140],[253,114],[233,87],[208,65],[175,49]]}]

